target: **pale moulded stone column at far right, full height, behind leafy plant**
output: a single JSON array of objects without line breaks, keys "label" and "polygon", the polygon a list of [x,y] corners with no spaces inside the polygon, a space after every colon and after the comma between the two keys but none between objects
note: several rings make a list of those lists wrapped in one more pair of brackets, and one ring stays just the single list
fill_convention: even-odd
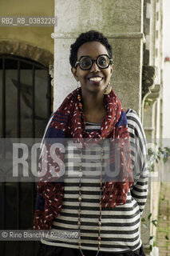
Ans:
[{"label": "pale moulded stone column at far right, full height, behind leafy plant", "polygon": [[[161,146],[162,138],[162,0],[144,0],[144,35],[146,44],[144,46],[144,66],[142,77],[142,100],[145,111],[143,111],[144,131],[148,142],[157,142]],[[159,162],[159,173],[162,171]],[[147,220],[149,211],[151,220],[157,218],[158,202],[160,192],[160,174],[158,178],[149,178],[148,201],[144,209],[143,217]],[[144,234],[145,248],[156,241],[156,227],[149,225],[148,229],[141,229]],[[149,240],[149,237],[153,239]]]}]

